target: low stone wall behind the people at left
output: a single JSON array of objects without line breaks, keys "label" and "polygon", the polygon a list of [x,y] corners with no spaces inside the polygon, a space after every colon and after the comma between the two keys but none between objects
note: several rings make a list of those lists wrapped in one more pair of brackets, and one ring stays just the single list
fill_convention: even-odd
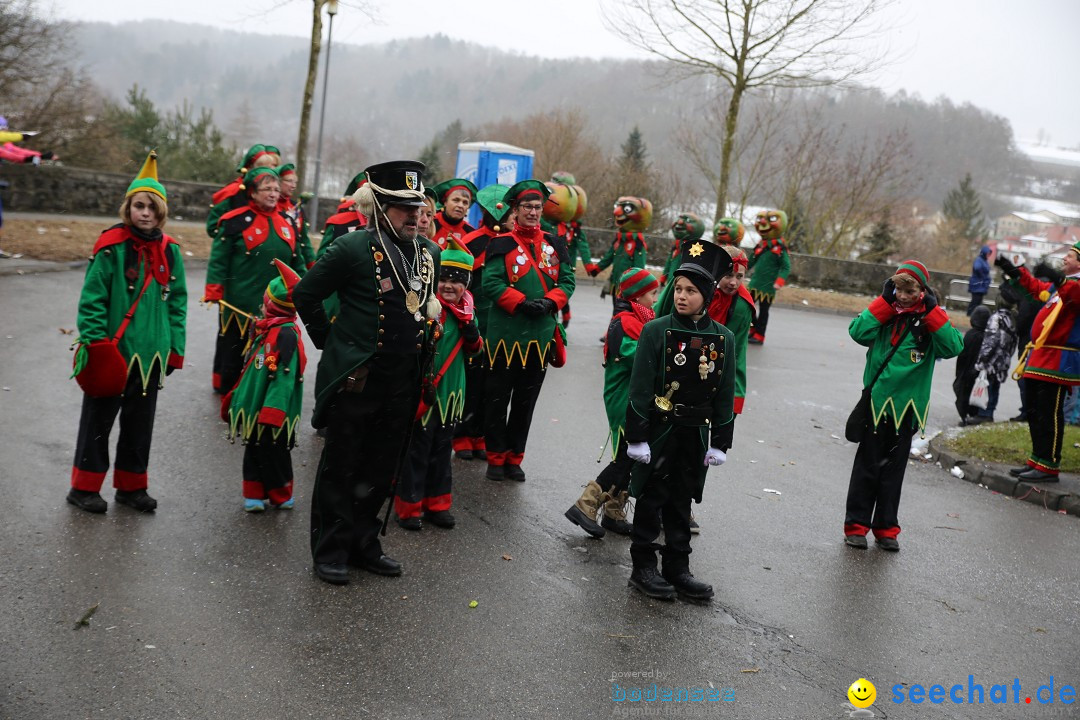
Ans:
[{"label": "low stone wall behind the people at left", "polygon": [[[0,165],[0,190],[4,209],[22,213],[56,213],[116,217],[131,175],[104,173],[65,165]],[[210,199],[220,188],[206,182],[163,179],[168,193],[168,215],[174,220],[202,221]],[[224,184],[222,184],[224,185]],[[319,214],[334,214],[339,198],[321,198]]]}]

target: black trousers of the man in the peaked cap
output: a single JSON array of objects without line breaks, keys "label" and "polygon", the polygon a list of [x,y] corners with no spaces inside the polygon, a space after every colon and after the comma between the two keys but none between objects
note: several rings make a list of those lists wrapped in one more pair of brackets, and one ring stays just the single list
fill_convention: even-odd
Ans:
[{"label": "black trousers of the man in the peaked cap", "polygon": [[376,355],[362,392],[329,400],[311,501],[315,562],[356,565],[382,555],[379,508],[419,402],[418,363],[417,355]]}]

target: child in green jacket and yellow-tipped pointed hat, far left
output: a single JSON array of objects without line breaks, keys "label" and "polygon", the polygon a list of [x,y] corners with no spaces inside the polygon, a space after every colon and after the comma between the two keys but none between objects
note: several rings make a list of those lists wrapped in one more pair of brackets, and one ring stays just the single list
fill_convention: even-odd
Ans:
[{"label": "child in green jacket and yellow-tipped pointed hat, far left", "polygon": [[[112,474],[117,502],[143,512],[158,505],[147,493],[158,390],[163,376],[184,366],[188,308],[183,255],[176,241],[161,232],[167,217],[165,201],[157,154],[151,151],[127,187],[124,222],[106,230],[95,243],[79,296],[73,375],[96,372],[91,347],[109,344],[122,334],[116,349],[126,376],[119,395],[83,396],[67,500],[92,513],[108,507],[99,493],[118,413],[120,438]],[[81,378],[80,382],[89,386]]]}]

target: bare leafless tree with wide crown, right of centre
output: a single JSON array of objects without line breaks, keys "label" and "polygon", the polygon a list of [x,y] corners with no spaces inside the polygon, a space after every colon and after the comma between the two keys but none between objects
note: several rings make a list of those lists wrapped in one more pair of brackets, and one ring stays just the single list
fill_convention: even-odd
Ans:
[{"label": "bare leafless tree with wide crown, right of centre", "polygon": [[[874,15],[891,0],[609,0],[605,22],[680,76],[712,76],[730,90],[716,190],[727,206],[739,112],[758,87],[848,82],[885,55],[869,41]],[[861,52],[860,52],[861,51]]]}]

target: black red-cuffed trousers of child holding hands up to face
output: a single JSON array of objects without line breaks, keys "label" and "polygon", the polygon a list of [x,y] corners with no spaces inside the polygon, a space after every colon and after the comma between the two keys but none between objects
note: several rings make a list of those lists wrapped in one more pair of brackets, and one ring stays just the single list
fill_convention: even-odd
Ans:
[{"label": "black red-cuffed trousers of child holding hands up to face", "polygon": [[877,430],[859,444],[848,485],[845,534],[864,535],[872,528],[879,538],[900,532],[900,491],[915,430],[913,413],[901,419],[899,429],[886,413]]}]

